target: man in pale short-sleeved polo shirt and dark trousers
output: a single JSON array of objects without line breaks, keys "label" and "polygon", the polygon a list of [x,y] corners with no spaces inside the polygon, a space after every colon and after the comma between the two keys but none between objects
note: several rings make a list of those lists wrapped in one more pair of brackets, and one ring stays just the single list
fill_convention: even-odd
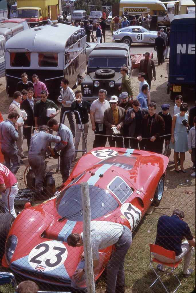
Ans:
[{"label": "man in pale short-sleeved polo shirt and dark trousers", "polygon": [[[99,90],[99,98],[94,100],[90,107],[90,120],[92,124],[92,130],[94,131],[95,137],[93,147],[105,147],[107,142],[106,126],[104,124],[104,112],[109,106],[109,102],[106,100],[107,91]],[[97,135],[97,134],[104,134]]]}]

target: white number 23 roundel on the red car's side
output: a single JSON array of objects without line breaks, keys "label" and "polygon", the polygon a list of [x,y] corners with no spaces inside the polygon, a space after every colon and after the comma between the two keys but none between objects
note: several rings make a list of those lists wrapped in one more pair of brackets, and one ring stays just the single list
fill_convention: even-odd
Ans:
[{"label": "white number 23 roundel on the red car's side", "polygon": [[127,202],[121,206],[121,213],[129,221],[129,224],[131,226],[131,231],[133,231],[141,219],[141,214],[142,214],[141,210],[138,209],[137,207],[134,207],[134,205],[131,205],[129,202]]}]

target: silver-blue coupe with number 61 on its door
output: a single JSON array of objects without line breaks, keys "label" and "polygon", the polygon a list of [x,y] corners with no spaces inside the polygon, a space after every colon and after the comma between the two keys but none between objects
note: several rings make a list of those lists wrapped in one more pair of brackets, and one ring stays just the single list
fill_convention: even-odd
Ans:
[{"label": "silver-blue coupe with number 61 on its door", "polygon": [[112,36],[112,40],[130,46],[131,43],[154,44],[156,37],[157,32],[149,31],[146,28],[134,25],[116,30]]}]

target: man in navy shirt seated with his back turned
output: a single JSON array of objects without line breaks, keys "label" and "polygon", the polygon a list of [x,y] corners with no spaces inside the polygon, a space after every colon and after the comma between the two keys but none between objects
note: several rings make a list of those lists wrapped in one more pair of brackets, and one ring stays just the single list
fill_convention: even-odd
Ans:
[{"label": "man in navy shirt seated with his back turned", "polygon": [[[175,251],[175,263],[184,257],[183,277],[187,278],[191,275],[192,269],[189,269],[191,257],[195,247],[195,238],[193,238],[190,228],[183,221],[185,214],[179,209],[175,209],[172,216],[161,216],[158,219],[157,235],[155,244],[167,250]],[[187,241],[182,243],[183,238]],[[153,253],[154,257],[163,263],[172,263],[172,260],[163,255]],[[159,271],[165,270],[165,265],[158,264]]]}]

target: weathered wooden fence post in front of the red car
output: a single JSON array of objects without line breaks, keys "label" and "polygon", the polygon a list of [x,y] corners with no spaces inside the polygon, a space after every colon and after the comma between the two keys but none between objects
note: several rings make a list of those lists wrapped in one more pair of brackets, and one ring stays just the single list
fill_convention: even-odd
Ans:
[{"label": "weathered wooden fence post in front of the red car", "polygon": [[90,240],[90,197],[89,187],[87,182],[82,182],[81,194],[82,194],[82,211],[83,211],[83,243],[84,243],[84,254],[85,254],[85,270],[86,270],[86,282],[87,292],[95,293],[94,285],[94,272],[92,262],[92,248]]}]

